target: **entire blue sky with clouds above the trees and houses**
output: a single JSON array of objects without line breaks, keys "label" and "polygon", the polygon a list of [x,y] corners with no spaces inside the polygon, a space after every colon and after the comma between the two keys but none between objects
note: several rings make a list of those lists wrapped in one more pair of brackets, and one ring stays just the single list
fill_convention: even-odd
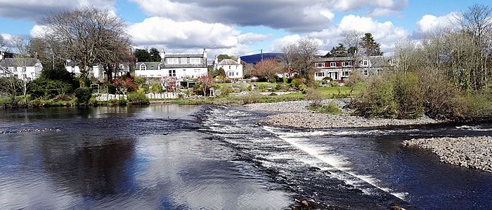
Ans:
[{"label": "entire blue sky with clouds above the trees and houses", "polygon": [[343,31],[373,34],[383,52],[394,43],[451,24],[453,15],[485,0],[0,0],[0,34],[37,36],[48,13],[94,6],[127,23],[136,48],[166,53],[234,56],[280,52],[312,38],[320,55],[342,41]]}]

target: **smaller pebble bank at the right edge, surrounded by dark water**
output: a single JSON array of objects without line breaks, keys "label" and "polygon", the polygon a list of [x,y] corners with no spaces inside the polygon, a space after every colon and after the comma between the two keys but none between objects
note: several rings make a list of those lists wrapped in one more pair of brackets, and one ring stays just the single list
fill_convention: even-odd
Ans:
[{"label": "smaller pebble bank at the right edge, surrounded by dark water", "polygon": [[492,172],[492,137],[411,139],[402,144],[428,149],[438,155],[441,162]]}]

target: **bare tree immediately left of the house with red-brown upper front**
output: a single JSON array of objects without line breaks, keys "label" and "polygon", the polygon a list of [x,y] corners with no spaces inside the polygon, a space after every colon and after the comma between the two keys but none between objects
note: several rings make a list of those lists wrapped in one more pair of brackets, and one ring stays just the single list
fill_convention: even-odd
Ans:
[{"label": "bare tree immediately left of the house with red-brown upper front", "polygon": [[302,63],[301,71],[302,74],[306,74],[313,63],[316,54],[318,54],[320,45],[314,39],[302,38],[299,40],[299,43],[297,43],[297,47],[299,49],[299,60]]}]

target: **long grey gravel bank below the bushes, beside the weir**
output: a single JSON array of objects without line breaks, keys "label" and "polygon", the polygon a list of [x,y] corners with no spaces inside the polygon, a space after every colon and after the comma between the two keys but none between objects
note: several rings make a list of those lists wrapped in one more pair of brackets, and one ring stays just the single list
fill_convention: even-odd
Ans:
[{"label": "long grey gravel bank below the bushes, beside the weir", "polygon": [[[328,105],[331,102],[336,103],[339,107],[344,107],[349,99],[328,99],[323,104]],[[351,110],[342,109],[342,115],[328,115],[325,113],[316,113],[306,109],[310,102],[278,102],[268,104],[247,104],[247,109],[257,111],[274,111],[280,112],[273,116],[268,116],[267,120],[261,121],[267,125],[278,125],[285,127],[323,129],[323,128],[356,128],[356,127],[385,127],[385,126],[403,126],[403,125],[428,125],[443,123],[440,120],[434,120],[427,117],[411,120],[396,120],[382,118],[362,118],[350,116]]]}]

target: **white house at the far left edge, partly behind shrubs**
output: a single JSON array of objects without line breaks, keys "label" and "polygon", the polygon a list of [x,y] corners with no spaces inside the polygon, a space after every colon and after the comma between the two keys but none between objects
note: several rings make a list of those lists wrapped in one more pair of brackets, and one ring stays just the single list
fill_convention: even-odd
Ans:
[{"label": "white house at the far left edge, partly behind shrubs", "polygon": [[0,77],[14,76],[22,80],[35,80],[41,75],[43,65],[35,58],[0,57]]}]

